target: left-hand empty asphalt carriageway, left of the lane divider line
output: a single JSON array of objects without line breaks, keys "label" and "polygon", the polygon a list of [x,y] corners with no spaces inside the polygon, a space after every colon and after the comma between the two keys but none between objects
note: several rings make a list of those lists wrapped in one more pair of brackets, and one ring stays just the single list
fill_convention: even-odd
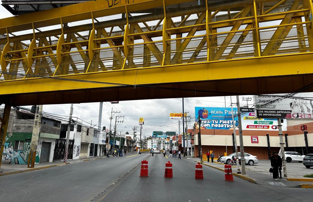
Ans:
[{"label": "left-hand empty asphalt carriageway, left of the lane divider line", "polygon": [[149,155],[133,153],[1,176],[0,201],[91,201]]}]

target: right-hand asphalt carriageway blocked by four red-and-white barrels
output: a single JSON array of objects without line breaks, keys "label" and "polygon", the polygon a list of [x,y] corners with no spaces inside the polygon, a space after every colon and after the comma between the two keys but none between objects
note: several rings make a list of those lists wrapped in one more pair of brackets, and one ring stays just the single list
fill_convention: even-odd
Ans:
[{"label": "right-hand asphalt carriageway blocked by four red-and-white barrels", "polygon": [[[164,178],[165,163],[173,163],[173,178]],[[149,177],[140,167],[117,182],[96,201],[312,201],[312,190],[257,185],[203,166],[203,180],[194,179],[195,162],[154,155],[148,158]],[[275,181],[277,182],[277,181]]]}]

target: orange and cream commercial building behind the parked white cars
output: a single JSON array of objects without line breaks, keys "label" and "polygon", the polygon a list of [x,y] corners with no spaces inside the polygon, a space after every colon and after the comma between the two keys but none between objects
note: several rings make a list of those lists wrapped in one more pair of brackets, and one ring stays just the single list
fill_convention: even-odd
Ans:
[{"label": "orange and cream commercial building behind the parked white cars", "polygon": [[[286,119],[286,129],[283,131],[285,151],[297,151],[302,155],[313,153],[313,122],[308,119]],[[307,131],[302,131],[305,125]],[[198,132],[193,130],[192,143],[194,141],[194,157],[198,157]],[[273,151],[280,150],[278,130],[243,130],[244,151],[256,155],[258,159],[269,159]],[[305,135],[305,133],[307,133]],[[236,130],[236,140],[239,148],[239,130]],[[235,151],[233,130],[204,129],[201,128],[202,154],[212,150],[216,155],[223,155]]]}]

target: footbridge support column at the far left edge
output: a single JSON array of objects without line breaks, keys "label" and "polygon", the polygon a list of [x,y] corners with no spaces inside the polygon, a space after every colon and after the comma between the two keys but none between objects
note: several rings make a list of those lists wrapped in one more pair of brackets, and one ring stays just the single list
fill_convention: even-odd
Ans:
[{"label": "footbridge support column at the far left edge", "polygon": [[10,118],[11,106],[6,104],[3,110],[3,116],[0,117],[1,129],[0,129],[0,168],[2,163],[2,154],[4,149],[5,137],[7,136],[8,123]]}]

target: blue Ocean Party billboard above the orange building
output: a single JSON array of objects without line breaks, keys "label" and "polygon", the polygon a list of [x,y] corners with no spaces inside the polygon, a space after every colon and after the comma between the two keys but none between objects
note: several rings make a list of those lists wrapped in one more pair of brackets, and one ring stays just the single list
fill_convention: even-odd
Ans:
[{"label": "blue Ocean Party billboard above the orange building", "polygon": [[[234,115],[237,114],[237,108],[233,108]],[[230,108],[224,107],[195,107],[195,117],[198,121],[200,116],[201,128],[204,129],[232,129],[233,120]],[[235,124],[238,121],[235,118]]]}]

